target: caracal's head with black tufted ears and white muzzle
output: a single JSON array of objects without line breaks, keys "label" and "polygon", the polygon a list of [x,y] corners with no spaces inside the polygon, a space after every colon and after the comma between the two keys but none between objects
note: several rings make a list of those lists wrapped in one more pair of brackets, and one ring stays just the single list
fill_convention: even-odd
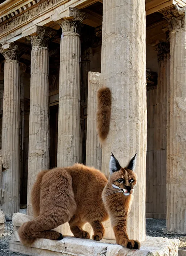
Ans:
[{"label": "caracal's head with black tufted ears and white muzzle", "polygon": [[116,159],[116,157],[111,153],[110,157],[110,178],[109,185],[113,187],[113,193],[121,192],[125,196],[129,196],[134,192],[134,186],[137,183],[137,175],[134,172],[136,154],[130,160],[128,167],[122,168]]}]

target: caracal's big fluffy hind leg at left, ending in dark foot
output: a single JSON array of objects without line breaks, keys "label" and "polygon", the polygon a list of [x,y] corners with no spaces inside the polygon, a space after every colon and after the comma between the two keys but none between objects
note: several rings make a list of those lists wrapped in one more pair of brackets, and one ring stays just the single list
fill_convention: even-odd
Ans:
[{"label": "caracal's big fluffy hind leg at left, ending in dark foot", "polygon": [[18,230],[24,245],[31,245],[36,238],[61,240],[62,235],[51,229],[69,221],[76,211],[72,178],[66,171],[46,173],[40,193],[40,215]]}]

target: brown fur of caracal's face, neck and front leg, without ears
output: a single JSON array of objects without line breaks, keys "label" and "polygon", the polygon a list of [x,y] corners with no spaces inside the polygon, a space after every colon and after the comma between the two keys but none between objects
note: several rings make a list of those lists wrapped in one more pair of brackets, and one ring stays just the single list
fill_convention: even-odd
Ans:
[{"label": "brown fur of caracal's face, neck and front leg, without ears", "polygon": [[[117,180],[121,178],[124,178],[125,184],[117,182]],[[134,180],[132,184],[129,183],[130,179]],[[102,199],[110,216],[116,243],[130,249],[140,249],[140,242],[130,240],[127,235],[127,217],[130,211],[130,205],[132,204],[133,195],[124,196],[123,193],[116,193],[117,190],[113,188],[112,184],[122,189],[128,187],[133,189],[136,183],[136,174],[127,168],[121,168],[110,176],[109,182],[102,193]]]}]

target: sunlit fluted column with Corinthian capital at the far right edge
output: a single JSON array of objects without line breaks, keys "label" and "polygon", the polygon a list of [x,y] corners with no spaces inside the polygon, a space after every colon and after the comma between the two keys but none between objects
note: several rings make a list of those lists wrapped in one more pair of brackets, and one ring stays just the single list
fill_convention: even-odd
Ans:
[{"label": "sunlit fluted column with Corinthian capital at the far right edge", "polygon": [[186,29],[185,11],[175,5],[163,15],[170,30],[167,92],[167,216],[170,232],[186,233]]}]

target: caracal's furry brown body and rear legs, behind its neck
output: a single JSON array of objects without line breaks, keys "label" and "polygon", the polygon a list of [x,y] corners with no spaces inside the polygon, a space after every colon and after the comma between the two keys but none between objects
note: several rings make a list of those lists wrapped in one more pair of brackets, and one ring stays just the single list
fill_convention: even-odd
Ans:
[{"label": "caracal's furry brown body and rear legs, behind its neck", "polygon": [[93,239],[101,240],[104,236],[101,222],[108,219],[101,193],[107,182],[99,170],[82,164],[40,172],[31,194],[37,217],[19,228],[21,243],[31,245],[36,238],[59,240],[61,234],[51,229],[67,221],[75,237],[90,238],[82,229],[89,222]]}]

